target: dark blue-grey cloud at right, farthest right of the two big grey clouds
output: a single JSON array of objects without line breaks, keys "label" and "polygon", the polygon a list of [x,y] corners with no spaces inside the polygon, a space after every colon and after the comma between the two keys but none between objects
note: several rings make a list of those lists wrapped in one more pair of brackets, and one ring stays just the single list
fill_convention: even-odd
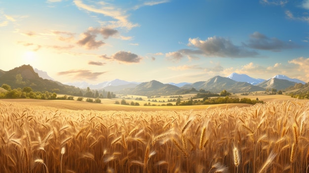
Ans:
[{"label": "dark blue-grey cloud at right, farthest right of the two big grey clouds", "polygon": [[245,45],[253,49],[270,50],[274,52],[279,52],[282,49],[299,47],[292,41],[282,41],[275,37],[269,38],[259,32],[255,32],[250,35],[250,39],[248,43],[245,43]]}]

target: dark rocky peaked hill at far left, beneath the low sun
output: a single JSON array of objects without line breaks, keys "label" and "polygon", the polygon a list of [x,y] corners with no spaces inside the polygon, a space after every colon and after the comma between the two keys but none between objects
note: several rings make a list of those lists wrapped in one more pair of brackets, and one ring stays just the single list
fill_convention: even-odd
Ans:
[{"label": "dark rocky peaked hill at far left, beneath the low sun", "polygon": [[[18,75],[20,75],[21,78],[18,79]],[[79,92],[79,88],[74,86],[64,85],[60,82],[39,77],[39,74],[36,73],[30,65],[23,65],[9,71],[5,71],[0,76],[0,86],[4,83],[10,85],[11,88],[24,88],[29,86],[34,91],[54,92],[58,90],[57,93],[68,95],[73,95],[73,93]]]}]

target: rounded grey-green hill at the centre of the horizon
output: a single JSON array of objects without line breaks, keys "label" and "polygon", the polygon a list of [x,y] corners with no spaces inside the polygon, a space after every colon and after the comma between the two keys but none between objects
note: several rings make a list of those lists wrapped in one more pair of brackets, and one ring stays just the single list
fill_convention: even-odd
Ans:
[{"label": "rounded grey-green hill at the centre of the horizon", "polygon": [[156,80],[143,82],[135,88],[129,88],[120,91],[120,93],[141,95],[141,96],[164,96],[174,95],[182,91],[179,87],[171,84],[163,84]]}]

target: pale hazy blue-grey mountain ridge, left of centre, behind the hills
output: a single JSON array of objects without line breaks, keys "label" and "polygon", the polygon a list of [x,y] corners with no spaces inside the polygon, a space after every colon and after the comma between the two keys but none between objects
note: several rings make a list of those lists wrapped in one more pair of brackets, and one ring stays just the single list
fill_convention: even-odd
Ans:
[{"label": "pale hazy blue-grey mountain ridge, left of centre, behind the hills", "polygon": [[98,83],[98,84],[89,84],[87,82],[74,82],[74,83],[65,83],[66,85],[73,85],[73,86],[76,86],[78,88],[87,88],[89,87],[90,89],[92,90],[97,90],[97,89],[104,89],[108,86],[120,86],[120,85],[127,85],[127,84],[140,84],[139,82],[128,82],[128,81],[125,81],[125,80],[120,80],[120,79],[115,79],[115,80],[112,80],[112,81],[105,81],[105,82],[102,82],[102,83]]}]

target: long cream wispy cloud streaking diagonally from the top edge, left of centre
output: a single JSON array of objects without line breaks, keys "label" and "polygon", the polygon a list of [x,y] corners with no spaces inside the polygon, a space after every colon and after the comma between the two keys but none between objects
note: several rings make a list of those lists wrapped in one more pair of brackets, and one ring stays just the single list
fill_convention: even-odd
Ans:
[{"label": "long cream wispy cloud streaking diagonally from the top edge, left of centre", "polygon": [[110,3],[101,2],[96,3],[95,5],[85,4],[82,0],[74,0],[75,5],[79,9],[84,9],[90,12],[103,14],[105,16],[116,19],[116,21],[109,21],[108,26],[111,28],[126,28],[127,30],[131,30],[134,27],[138,27],[138,24],[133,24],[129,22],[128,15],[125,10],[116,8]]}]

